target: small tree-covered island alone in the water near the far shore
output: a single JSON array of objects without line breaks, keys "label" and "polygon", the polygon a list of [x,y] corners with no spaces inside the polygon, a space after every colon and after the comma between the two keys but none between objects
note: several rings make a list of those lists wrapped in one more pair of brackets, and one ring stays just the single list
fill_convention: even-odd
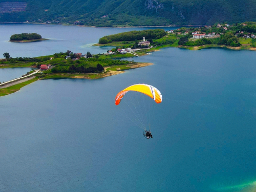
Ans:
[{"label": "small tree-covered island alone in the water near the far shore", "polygon": [[37,33],[21,33],[21,34],[14,34],[10,37],[11,42],[35,42],[35,41],[42,41],[48,40],[42,38],[41,35]]}]

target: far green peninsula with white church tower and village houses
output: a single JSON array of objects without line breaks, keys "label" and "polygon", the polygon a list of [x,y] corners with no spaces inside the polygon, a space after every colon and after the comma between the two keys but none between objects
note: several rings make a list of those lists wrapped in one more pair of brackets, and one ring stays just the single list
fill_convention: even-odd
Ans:
[{"label": "far green peninsula with white church tower and village houses", "polygon": [[[150,44],[143,46],[146,39]],[[208,47],[225,47],[228,49],[256,48],[256,23],[245,22],[229,25],[227,23],[203,27],[181,27],[167,32],[161,30],[131,31],[104,36],[95,46],[113,46],[106,57],[140,56],[162,47],[179,47],[199,50]],[[123,50],[123,51],[121,51]],[[127,53],[126,53],[126,52]],[[130,55],[132,53],[133,55]]]}]

